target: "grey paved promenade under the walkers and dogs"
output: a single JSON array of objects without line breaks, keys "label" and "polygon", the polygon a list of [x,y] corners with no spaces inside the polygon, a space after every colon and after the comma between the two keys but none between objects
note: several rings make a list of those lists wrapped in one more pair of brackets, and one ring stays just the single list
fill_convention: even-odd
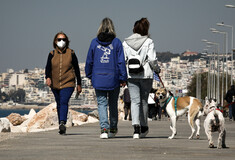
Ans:
[{"label": "grey paved promenade under the walkers and dogs", "polygon": [[27,133],[0,142],[0,160],[234,160],[235,122],[226,120],[228,148],[219,150],[208,148],[203,127],[200,140],[188,140],[191,131],[185,117],[179,119],[173,140],[167,139],[169,125],[167,119],[150,121],[149,134],[139,140],[132,139],[129,121],[120,121],[117,137],[107,140],[99,139],[98,123],[68,128],[66,136],[57,130]]}]

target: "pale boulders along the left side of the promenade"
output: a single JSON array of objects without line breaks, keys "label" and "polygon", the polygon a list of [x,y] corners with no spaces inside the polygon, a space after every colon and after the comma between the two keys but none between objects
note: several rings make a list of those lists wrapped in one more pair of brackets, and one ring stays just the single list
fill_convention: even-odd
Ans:
[{"label": "pale boulders along the left side of the promenade", "polygon": [[[98,122],[97,118],[69,109],[66,126],[95,122]],[[11,114],[0,120],[0,132],[40,132],[58,129],[58,127],[56,103],[48,105],[38,113],[31,109],[28,115]]]}]

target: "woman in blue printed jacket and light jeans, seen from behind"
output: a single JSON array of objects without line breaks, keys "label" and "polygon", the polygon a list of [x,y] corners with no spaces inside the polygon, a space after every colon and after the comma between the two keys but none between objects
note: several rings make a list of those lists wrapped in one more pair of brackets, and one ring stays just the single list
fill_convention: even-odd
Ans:
[{"label": "woman in blue printed jacket and light jeans, seen from behind", "polygon": [[97,96],[100,138],[114,137],[118,131],[118,95],[120,86],[126,85],[127,72],[122,42],[116,38],[113,22],[109,18],[102,20],[97,37],[90,44],[85,72]]}]

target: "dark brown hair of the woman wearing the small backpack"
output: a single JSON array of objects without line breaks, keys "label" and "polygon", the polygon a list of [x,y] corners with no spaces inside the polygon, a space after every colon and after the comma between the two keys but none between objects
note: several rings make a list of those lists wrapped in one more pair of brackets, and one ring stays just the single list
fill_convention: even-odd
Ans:
[{"label": "dark brown hair of the woman wearing the small backpack", "polygon": [[148,19],[141,18],[140,20],[135,22],[133,32],[138,33],[141,36],[148,36],[149,35],[149,33],[148,33],[149,26],[150,26],[150,23],[149,23]]}]

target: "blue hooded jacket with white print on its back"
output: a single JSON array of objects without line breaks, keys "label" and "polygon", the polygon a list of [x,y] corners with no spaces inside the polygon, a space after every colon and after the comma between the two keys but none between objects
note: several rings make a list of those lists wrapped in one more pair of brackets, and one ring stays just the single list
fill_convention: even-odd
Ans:
[{"label": "blue hooded jacket with white print on its back", "polygon": [[85,72],[95,89],[113,90],[119,87],[120,81],[127,80],[122,42],[118,38],[111,42],[94,38],[87,54]]}]

